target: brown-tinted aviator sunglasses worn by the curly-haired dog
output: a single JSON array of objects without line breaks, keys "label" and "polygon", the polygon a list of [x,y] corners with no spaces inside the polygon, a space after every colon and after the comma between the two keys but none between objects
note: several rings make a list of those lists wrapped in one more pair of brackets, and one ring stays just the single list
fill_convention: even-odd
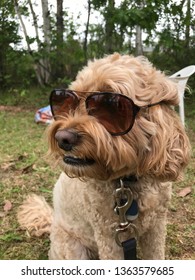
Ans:
[{"label": "brown-tinted aviator sunglasses worn by the curly-haired dog", "polygon": [[[70,112],[74,112],[80,100],[75,91],[53,90],[50,95],[50,106],[54,119],[66,117]],[[92,92],[85,100],[88,115],[95,117],[113,136],[129,132],[140,109],[157,104],[159,102],[140,107],[127,96],[111,92]]]}]

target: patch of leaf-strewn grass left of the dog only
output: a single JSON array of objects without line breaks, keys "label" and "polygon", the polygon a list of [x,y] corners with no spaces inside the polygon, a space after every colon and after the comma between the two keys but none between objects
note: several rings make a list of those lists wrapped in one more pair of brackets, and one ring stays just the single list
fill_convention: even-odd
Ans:
[{"label": "patch of leaf-strewn grass left of the dog only", "polygon": [[[48,236],[30,238],[19,229],[16,212],[31,192],[51,201],[59,175],[44,157],[46,126],[34,122],[36,110],[48,105],[48,97],[35,90],[28,96],[12,91],[1,97],[0,105],[14,107],[0,111],[0,259],[47,259]],[[12,209],[4,216],[6,200],[12,203]]]}]

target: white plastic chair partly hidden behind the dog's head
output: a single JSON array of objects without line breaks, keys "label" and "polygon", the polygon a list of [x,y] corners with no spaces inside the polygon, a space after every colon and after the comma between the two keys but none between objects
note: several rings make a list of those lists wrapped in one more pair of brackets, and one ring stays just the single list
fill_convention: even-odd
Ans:
[{"label": "white plastic chair partly hidden behind the dog's head", "polygon": [[185,124],[185,113],[184,113],[184,92],[188,81],[188,78],[195,72],[195,65],[187,66],[175,74],[171,75],[170,78],[174,79],[178,83],[179,93],[179,115],[183,125]]}]

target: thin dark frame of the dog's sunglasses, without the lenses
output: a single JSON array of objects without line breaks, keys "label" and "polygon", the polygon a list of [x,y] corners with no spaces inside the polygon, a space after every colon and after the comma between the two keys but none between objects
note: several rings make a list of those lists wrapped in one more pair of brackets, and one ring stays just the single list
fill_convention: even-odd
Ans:
[{"label": "thin dark frame of the dog's sunglasses, without the lenses", "polygon": [[[52,115],[55,119],[56,115],[54,114],[54,111],[53,111],[53,105],[52,105],[52,96],[53,94],[55,93],[56,94],[56,91],[63,91],[63,92],[69,92],[70,94],[72,94],[73,96],[75,96],[78,100],[78,105],[79,105],[79,102],[80,100],[82,100],[83,98],[80,98],[78,95],[77,95],[77,92],[80,92],[80,93],[91,93],[89,96],[86,97],[85,99],[85,106],[86,106],[86,109],[88,110],[88,106],[87,106],[87,102],[88,100],[95,96],[95,95],[104,95],[104,94],[113,94],[114,96],[120,96],[122,98],[125,98],[127,99],[131,104],[132,104],[132,108],[133,108],[133,121],[132,121],[132,124],[130,125],[130,127],[128,129],[126,129],[125,131],[122,131],[122,132],[116,132],[116,133],[113,133],[113,132],[110,132],[106,129],[105,129],[112,135],[112,136],[120,136],[120,135],[124,135],[124,134],[127,134],[133,127],[134,125],[134,122],[135,122],[135,118],[136,118],[136,115],[138,114],[138,112],[140,111],[140,109],[145,109],[145,108],[150,108],[150,107],[153,107],[155,105],[159,105],[161,102],[156,102],[156,103],[153,103],[153,104],[148,104],[148,105],[144,105],[144,106],[138,106],[136,105],[132,99],[130,99],[129,97],[121,94],[121,93],[115,93],[115,92],[89,92],[89,91],[75,91],[75,90],[70,90],[70,89],[64,89],[64,88],[58,88],[58,89],[54,89],[52,90],[51,94],[50,94],[50,98],[49,98],[49,103],[50,103],[50,107],[51,107],[51,112],[52,112]],[[88,113],[89,115],[91,115],[90,113]],[[92,115],[93,116],[93,115]],[[103,124],[102,124],[103,125]],[[104,125],[103,125],[104,126]]]}]

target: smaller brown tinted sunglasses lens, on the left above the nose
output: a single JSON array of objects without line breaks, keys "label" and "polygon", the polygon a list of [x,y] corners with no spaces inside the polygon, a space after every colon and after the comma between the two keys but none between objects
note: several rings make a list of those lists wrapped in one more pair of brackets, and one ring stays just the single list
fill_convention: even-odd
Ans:
[{"label": "smaller brown tinted sunglasses lens, on the left above the nose", "polygon": [[69,90],[56,89],[50,96],[50,106],[53,116],[66,116],[78,106],[77,96]]}]

